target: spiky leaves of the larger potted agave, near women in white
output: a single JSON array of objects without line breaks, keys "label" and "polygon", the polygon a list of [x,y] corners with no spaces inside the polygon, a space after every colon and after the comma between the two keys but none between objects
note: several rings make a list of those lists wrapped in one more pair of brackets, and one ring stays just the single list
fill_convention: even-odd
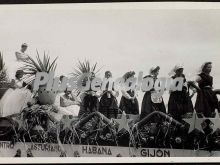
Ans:
[{"label": "spiky leaves of the larger potted agave, near women in white", "polygon": [[32,57],[28,57],[28,60],[24,61],[24,66],[21,67],[25,74],[25,79],[27,83],[32,83],[37,72],[46,72],[55,71],[57,57],[51,61],[50,56],[46,55],[44,52],[43,59],[40,58],[40,55],[37,51],[36,60]]}]

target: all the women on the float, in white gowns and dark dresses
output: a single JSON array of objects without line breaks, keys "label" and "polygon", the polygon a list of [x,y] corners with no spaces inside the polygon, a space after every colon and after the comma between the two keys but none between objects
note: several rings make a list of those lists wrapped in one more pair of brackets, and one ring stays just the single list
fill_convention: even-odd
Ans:
[{"label": "all the women on the float, in white gowns and dark dresses", "polygon": [[[25,54],[26,49],[27,44],[22,44],[21,51],[15,53],[18,62],[28,59],[28,56]],[[213,77],[210,75],[211,70],[212,63],[206,62],[202,65],[197,79],[195,81],[188,81],[183,73],[184,68],[178,65],[175,66],[172,70],[171,78],[175,79],[182,77],[184,79],[184,84],[181,91],[170,91],[168,111],[166,111],[163,97],[157,97],[153,94],[156,92],[154,88],[145,92],[140,108],[137,99],[137,91],[135,88],[129,91],[125,91],[123,89],[121,91],[117,91],[114,90],[113,86],[113,88],[109,90],[109,83],[106,84],[106,89],[102,90],[101,92],[99,91],[99,93],[97,91],[93,91],[91,88],[82,92],[80,94],[80,98],[72,94],[71,91],[65,90],[64,94],[60,97],[60,107],[67,108],[72,105],[77,106],[79,112],[77,112],[76,115],[79,117],[83,117],[92,112],[98,111],[104,114],[107,118],[117,118],[118,114],[121,114],[123,111],[126,114],[131,115],[139,115],[140,111],[140,119],[143,119],[153,111],[161,111],[163,113],[168,112],[168,114],[176,120],[181,120],[183,115],[193,112],[194,109],[197,113],[202,113],[205,117],[211,117],[215,112],[215,109],[219,109],[216,94],[220,93],[219,90],[213,90]],[[158,79],[159,71],[159,66],[152,67],[149,75],[145,76],[144,78],[150,77],[155,82]],[[21,109],[27,105],[27,102],[30,101],[29,98],[33,96],[31,90],[29,90],[30,86],[22,81],[23,75],[24,73],[22,70],[16,71],[15,79],[12,80],[11,83],[11,89],[9,89],[4,94],[4,97],[1,98],[1,116],[7,116],[14,113],[14,110],[13,112],[10,112],[10,109],[16,109],[15,111],[19,113]],[[130,71],[124,74],[123,79],[126,82],[126,80],[134,76],[135,72]],[[62,78],[63,77],[61,76],[60,81],[62,81]],[[95,73],[91,72],[88,78],[93,80],[95,78]],[[105,79],[111,78],[112,73],[110,71],[106,71]],[[15,92],[16,90],[17,92]],[[117,101],[119,92],[122,94],[120,103]],[[191,99],[194,93],[197,93],[195,106],[193,106]],[[24,95],[24,97],[20,97],[21,95]],[[14,104],[11,104],[12,97],[16,98],[13,101]],[[19,100],[18,98],[21,98],[22,100]],[[22,103],[22,105],[17,106],[19,103]]]}]

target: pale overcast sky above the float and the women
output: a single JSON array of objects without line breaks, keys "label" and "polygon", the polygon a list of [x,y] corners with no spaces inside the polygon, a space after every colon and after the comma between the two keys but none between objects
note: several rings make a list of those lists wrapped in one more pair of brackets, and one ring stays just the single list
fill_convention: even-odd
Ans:
[{"label": "pale overcast sky above the float and the women", "polygon": [[[149,9],[22,9],[0,10],[0,51],[10,67],[23,42],[58,56],[57,75],[74,70],[77,60],[89,59],[113,77],[134,70],[149,73],[159,65],[167,77],[183,64],[188,78],[206,61],[213,62],[214,87],[220,88],[220,10]],[[142,94],[140,95],[140,102]]]}]

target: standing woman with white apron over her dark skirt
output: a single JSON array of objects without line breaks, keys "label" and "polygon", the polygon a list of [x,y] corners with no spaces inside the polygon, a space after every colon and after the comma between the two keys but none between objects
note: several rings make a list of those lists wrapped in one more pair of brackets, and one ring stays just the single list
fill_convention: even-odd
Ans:
[{"label": "standing woman with white apron over her dark skirt", "polygon": [[[159,74],[159,70],[160,70],[159,66],[152,67],[150,69],[150,74],[145,76],[144,79],[153,78],[155,83],[155,81],[157,80],[157,76]],[[157,97],[156,95],[154,95],[155,92],[156,91],[154,88],[145,92],[141,106],[141,116],[140,116],[141,119],[143,119],[144,117],[146,117],[147,115],[149,115],[154,111],[161,111],[166,113],[166,108],[162,96]]]}]

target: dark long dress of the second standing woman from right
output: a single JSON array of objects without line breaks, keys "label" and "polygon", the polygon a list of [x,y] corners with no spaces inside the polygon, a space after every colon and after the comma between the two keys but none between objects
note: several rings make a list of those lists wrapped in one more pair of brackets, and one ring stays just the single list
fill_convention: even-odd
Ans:
[{"label": "dark long dress of the second standing woman from right", "polygon": [[[185,75],[184,83],[186,82]],[[176,76],[172,77],[173,79]],[[192,100],[189,96],[189,87],[183,86],[181,91],[172,91],[168,101],[168,113],[176,120],[180,121],[182,116],[188,112],[193,112]]]}]

